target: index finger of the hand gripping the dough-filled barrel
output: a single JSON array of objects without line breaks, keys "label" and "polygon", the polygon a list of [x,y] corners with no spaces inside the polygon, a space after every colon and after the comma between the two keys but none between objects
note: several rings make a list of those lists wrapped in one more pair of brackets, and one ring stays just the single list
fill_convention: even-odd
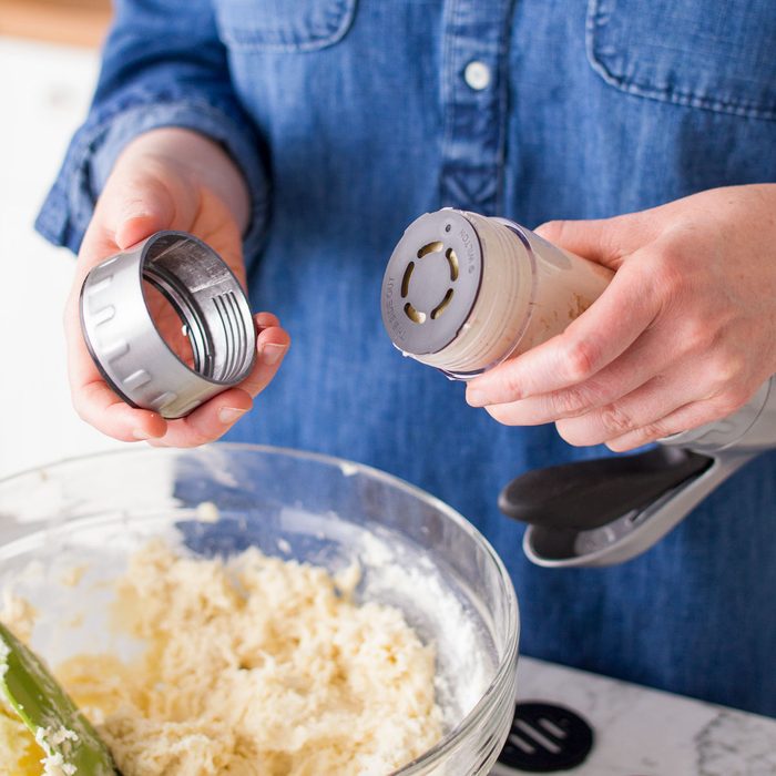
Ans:
[{"label": "index finger of the hand gripping the dough-filled barrel", "polygon": [[623,266],[562,334],[472,380],[467,401],[487,407],[578,385],[623,354],[657,312],[644,273]]}]

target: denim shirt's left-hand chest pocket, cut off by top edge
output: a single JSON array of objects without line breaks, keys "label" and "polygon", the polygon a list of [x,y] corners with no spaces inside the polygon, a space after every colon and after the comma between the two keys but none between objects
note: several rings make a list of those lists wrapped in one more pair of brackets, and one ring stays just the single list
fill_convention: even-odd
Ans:
[{"label": "denim shirt's left-hand chest pocket, cut off by top edge", "polygon": [[315,51],[341,40],[357,0],[213,0],[222,41],[233,50]]}]

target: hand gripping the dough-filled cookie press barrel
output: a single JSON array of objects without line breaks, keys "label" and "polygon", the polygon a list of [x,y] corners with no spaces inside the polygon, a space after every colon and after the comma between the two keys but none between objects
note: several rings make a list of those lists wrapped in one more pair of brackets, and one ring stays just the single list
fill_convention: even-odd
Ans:
[{"label": "hand gripping the dough-filled cookie press barrel", "polygon": [[565,331],[469,384],[500,422],[629,450],[729,415],[776,372],[776,185],[537,232],[615,275]]}]

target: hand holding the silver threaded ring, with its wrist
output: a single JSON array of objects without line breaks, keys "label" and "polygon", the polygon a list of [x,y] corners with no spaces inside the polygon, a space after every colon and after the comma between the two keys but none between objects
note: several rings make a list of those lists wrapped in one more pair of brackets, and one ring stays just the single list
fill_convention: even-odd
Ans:
[{"label": "hand holding the silver threaded ring, with its wrist", "polygon": [[[247,217],[248,194],[242,175],[225,152],[204,136],[172,127],[155,130],[122,153],[84,236],[64,312],[70,390],[83,420],[124,441],[195,447],[221,437],[252,408],[254,397],[275,376],[290,341],[274,315],[255,316],[257,359],[251,375],[176,420],[135,409],[113,392],[89,355],[79,318],[80,290],[89,270],[160,229],[196,235],[245,285],[241,233]],[[181,331],[180,318],[159,292],[147,284],[145,292],[160,331],[191,365],[191,346]]]}]

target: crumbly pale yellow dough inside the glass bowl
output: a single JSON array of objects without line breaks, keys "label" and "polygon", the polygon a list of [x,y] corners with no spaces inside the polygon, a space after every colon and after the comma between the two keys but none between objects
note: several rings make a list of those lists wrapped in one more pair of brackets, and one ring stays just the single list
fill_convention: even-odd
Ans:
[{"label": "crumbly pale yellow dough inside the glass bowl", "polygon": [[356,604],[357,583],[154,542],[118,583],[142,658],[79,655],[57,674],[124,776],[384,775],[442,735],[436,655],[399,610]]}]

